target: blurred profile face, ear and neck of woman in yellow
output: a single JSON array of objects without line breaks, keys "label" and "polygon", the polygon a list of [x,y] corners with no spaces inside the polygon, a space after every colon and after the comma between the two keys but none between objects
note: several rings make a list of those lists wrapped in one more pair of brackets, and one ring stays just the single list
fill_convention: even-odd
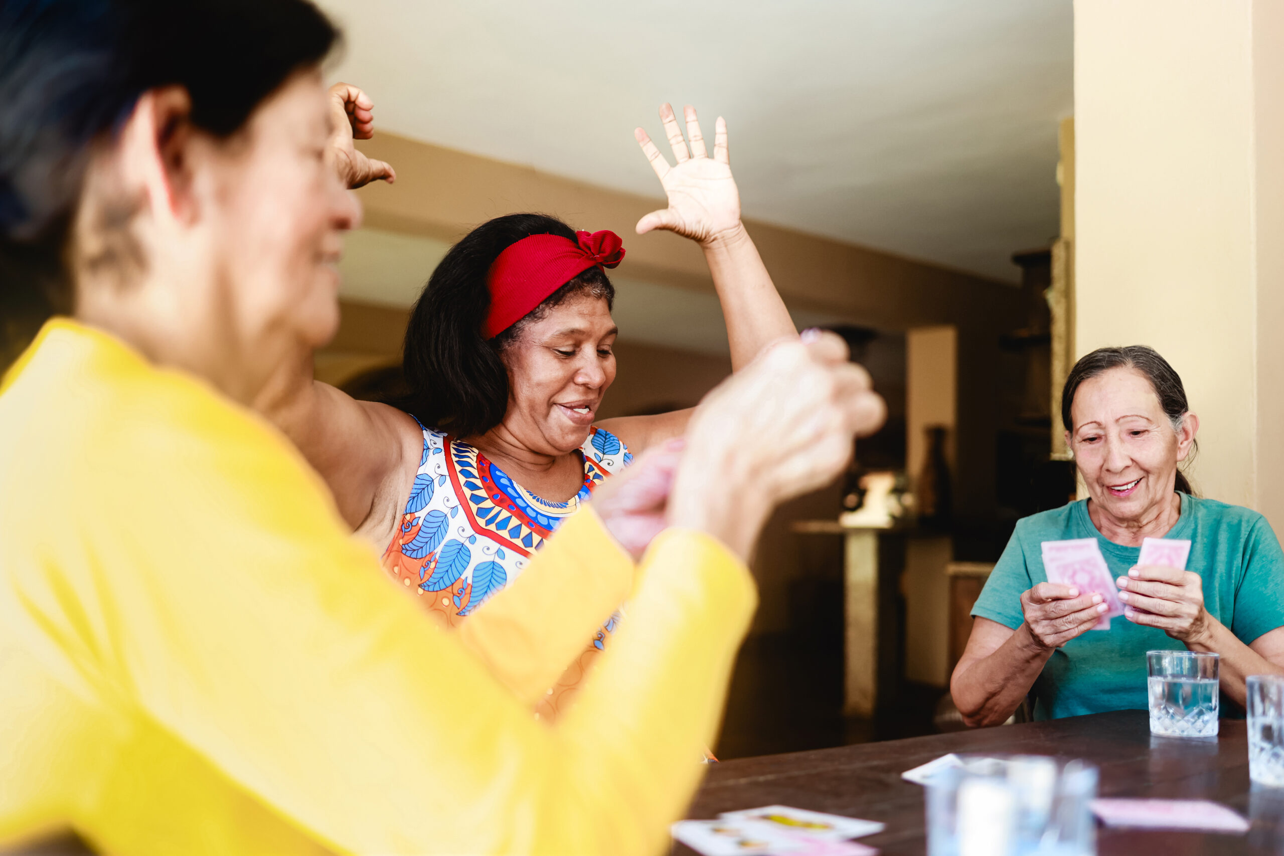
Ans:
[{"label": "blurred profile face, ear and neck of woman in yellow", "polygon": [[[330,160],[318,71],[288,78],[226,139],[189,109],[178,87],[149,92],[89,169],[76,316],[248,403],[338,329],[336,262],[361,208]],[[128,221],[105,217],[130,199]]]}]

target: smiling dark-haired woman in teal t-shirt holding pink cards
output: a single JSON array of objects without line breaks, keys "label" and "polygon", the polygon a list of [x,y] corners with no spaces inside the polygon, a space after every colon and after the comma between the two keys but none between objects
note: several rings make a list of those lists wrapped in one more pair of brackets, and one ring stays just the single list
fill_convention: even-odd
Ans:
[{"label": "smiling dark-haired woman in teal t-shirt holding pink cards", "polygon": [[[968,725],[1005,721],[1032,690],[1036,719],[1147,707],[1145,652],[1221,655],[1221,690],[1284,675],[1284,553],[1256,511],[1192,495],[1179,471],[1199,420],[1181,379],[1144,345],[1080,359],[1062,393],[1066,445],[1089,498],[1017,522],[981,597],[950,692]],[[1040,544],[1095,538],[1124,619],[1093,631],[1099,594],[1048,581]],[[1185,571],[1135,567],[1145,538],[1190,540]]]}]

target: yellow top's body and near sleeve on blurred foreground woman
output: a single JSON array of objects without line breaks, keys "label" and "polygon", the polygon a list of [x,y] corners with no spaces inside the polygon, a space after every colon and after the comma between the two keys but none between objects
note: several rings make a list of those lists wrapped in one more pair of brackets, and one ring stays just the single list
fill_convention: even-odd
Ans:
[{"label": "yellow top's body and near sleeve on blurred foreground woman", "polygon": [[0,843],[655,853],[755,601],[716,542],[665,533],[546,726],[514,694],[538,669],[506,687],[424,620],[275,431],[68,322],[0,390]]}]

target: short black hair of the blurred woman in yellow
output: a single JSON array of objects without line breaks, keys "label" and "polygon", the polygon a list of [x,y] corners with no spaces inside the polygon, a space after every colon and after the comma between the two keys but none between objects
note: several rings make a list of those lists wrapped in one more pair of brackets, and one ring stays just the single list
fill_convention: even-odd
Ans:
[{"label": "short black hair of the blurred woman in yellow", "polygon": [[182,86],[191,123],[229,137],[338,37],[307,0],[0,3],[0,352],[10,317],[67,311],[90,149],[140,95]]}]

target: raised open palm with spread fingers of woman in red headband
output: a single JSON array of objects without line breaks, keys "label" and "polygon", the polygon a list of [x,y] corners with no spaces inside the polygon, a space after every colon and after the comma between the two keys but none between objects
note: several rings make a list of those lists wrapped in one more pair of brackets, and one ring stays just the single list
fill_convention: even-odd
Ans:
[{"label": "raised open palm with spread fingers of woman in red headband", "polygon": [[678,127],[673,108],[668,104],[660,108],[664,132],[678,162],[674,167],[669,166],[646,131],[637,128],[633,132],[642,146],[642,153],[660,178],[664,193],[669,196],[669,207],[654,210],[639,219],[637,232],[643,235],[654,228],[666,228],[704,244],[740,226],[740,191],[731,176],[727,122],[718,117],[714,130],[714,157],[710,158],[705,150],[705,137],[700,132],[696,108],[688,104],[683,109],[683,118],[687,121],[690,149],[687,140],[682,137],[682,128]]}]

